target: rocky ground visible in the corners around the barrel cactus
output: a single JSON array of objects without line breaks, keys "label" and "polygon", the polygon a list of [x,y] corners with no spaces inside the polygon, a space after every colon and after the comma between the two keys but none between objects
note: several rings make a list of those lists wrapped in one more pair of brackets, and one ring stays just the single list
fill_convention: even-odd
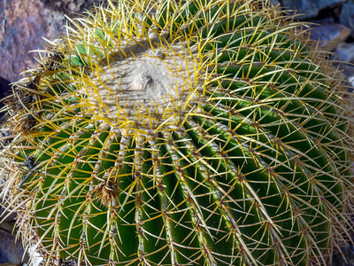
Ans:
[{"label": "rocky ground visible in the corners around the barrel cactus", "polygon": [[[65,30],[65,15],[89,10],[104,0],[0,0],[0,98],[10,90],[10,82],[35,64],[36,51],[44,40]],[[297,20],[314,22],[312,38],[321,41],[322,49],[333,51],[333,59],[354,63],[354,0],[271,0],[274,5],[297,11]],[[354,84],[354,65],[341,65],[343,73]],[[1,180],[0,180],[1,184]],[[0,215],[2,210],[0,209]],[[12,234],[14,216],[0,224],[0,266],[26,265],[27,256],[20,241]],[[354,246],[343,247],[342,256],[335,254],[334,266],[354,266]],[[23,262],[25,261],[25,262]]]}]

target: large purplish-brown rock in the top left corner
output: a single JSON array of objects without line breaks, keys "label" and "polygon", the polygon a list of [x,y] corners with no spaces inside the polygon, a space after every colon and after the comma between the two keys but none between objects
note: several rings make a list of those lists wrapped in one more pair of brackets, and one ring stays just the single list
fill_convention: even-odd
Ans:
[{"label": "large purplish-brown rock in the top left corner", "polygon": [[10,81],[35,63],[34,53],[42,48],[42,36],[57,36],[64,23],[64,15],[44,7],[39,0],[6,1],[0,10],[0,75]]}]

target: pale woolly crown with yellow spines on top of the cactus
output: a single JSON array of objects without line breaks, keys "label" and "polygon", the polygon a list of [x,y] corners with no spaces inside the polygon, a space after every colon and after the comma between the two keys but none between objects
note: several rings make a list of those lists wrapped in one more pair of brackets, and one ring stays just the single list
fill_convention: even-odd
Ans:
[{"label": "pale woolly crown with yellow spines on top of the cactus", "polygon": [[92,80],[81,80],[81,93],[88,95],[97,120],[104,116],[119,130],[154,134],[161,127],[177,129],[203,98],[207,100],[193,53],[181,43],[158,45],[161,39],[156,39],[137,39],[136,47],[126,44],[109,65],[94,70]]}]

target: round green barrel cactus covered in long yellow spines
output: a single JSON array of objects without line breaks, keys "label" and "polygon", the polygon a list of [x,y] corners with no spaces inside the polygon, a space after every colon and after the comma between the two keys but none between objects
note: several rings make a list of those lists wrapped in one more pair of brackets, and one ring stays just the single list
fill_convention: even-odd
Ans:
[{"label": "round green barrel cactus covered in long yellow spines", "polygon": [[47,263],[325,265],[349,239],[342,75],[256,1],[69,20],[5,99],[4,205]]}]

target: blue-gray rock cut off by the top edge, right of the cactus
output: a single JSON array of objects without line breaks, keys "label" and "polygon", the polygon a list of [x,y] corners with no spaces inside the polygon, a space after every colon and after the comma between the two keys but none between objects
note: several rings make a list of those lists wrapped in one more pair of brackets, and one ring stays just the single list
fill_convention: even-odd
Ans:
[{"label": "blue-gray rock cut off by the top edge, right of the cactus", "polygon": [[281,0],[283,7],[296,10],[298,14],[301,14],[297,17],[299,19],[316,17],[321,9],[343,2],[345,0]]}]

